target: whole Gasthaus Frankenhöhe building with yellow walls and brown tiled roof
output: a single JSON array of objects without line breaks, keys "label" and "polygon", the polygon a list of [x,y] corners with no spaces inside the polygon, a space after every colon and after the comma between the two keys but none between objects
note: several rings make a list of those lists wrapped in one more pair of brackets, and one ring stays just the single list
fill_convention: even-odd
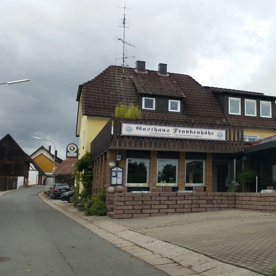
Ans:
[{"label": "whole Gasthaus Frankenh\u00f6he building with yellow walls and brown tiled roof", "polygon": [[[118,181],[128,190],[225,192],[238,171],[250,164],[244,148],[276,135],[275,99],[202,86],[189,75],[167,72],[162,63],[158,71],[146,70],[143,61],[124,72],[109,66],[79,86],[79,157],[91,153],[94,192]],[[118,103],[139,106],[141,119],[115,119]],[[122,173],[111,171],[114,167]],[[274,167],[269,168],[271,177],[259,179],[260,188],[274,181],[276,187]],[[257,165],[254,169],[259,170]],[[239,185],[237,190],[250,187]]]}]

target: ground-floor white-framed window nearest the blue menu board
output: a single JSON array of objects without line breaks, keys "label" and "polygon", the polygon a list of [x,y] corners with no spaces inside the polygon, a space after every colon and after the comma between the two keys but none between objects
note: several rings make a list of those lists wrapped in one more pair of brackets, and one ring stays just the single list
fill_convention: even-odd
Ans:
[{"label": "ground-floor white-framed window nearest the blue menu board", "polygon": [[149,183],[149,159],[127,158],[126,159],[125,186],[148,186]]}]

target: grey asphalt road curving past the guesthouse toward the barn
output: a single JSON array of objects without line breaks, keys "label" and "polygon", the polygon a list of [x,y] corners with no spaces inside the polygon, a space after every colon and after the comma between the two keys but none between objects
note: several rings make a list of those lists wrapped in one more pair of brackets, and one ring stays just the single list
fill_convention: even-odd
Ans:
[{"label": "grey asphalt road curving past the guesthouse toward the barn", "polygon": [[9,258],[0,262],[1,276],[168,275],[47,205],[38,196],[43,190],[0,196],[0,259]]}]

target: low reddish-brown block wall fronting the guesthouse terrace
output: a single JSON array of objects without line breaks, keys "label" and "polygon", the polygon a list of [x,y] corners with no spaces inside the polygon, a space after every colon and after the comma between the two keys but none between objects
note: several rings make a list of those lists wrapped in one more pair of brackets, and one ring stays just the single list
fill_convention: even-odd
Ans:
[{"label": "low reddish-brown block wall fronting the guesthouse terrace", "polygon": [[276,193],[116,193],[113,218],[152,217],[235,208],[276,213],[275,207]]}]

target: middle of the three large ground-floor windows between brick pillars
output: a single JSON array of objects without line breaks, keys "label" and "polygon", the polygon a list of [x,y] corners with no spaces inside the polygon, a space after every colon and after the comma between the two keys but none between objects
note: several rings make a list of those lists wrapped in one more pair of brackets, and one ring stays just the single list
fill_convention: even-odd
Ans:
[{"label": "middle of the three large ground-floor windows between brick pillars", "polygon": [[156,186],[178,186],[178,159],[157,159]]}]

